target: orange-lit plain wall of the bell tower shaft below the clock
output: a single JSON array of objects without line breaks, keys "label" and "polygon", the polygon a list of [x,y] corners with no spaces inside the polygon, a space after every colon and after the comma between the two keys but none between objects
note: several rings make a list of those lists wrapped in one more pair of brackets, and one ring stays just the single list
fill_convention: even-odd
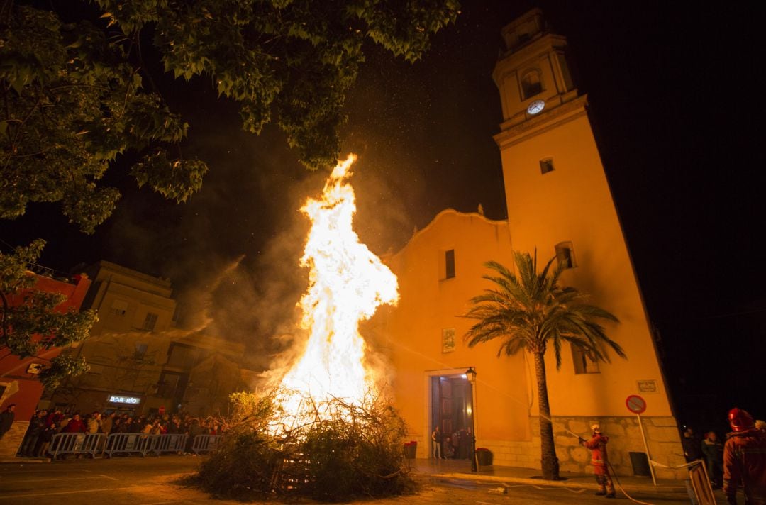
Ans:
[{"label": "orange-lit plain wall of the bell tower shaft below the clock", "polygon": [[[512,245],[519,251],[537,248],[538,256],[547,260],[555,256],[555,244],[571,241],[577,267],[566,271],[561,282],[590,294],[593,303],[620,319],[620,324],[606,326],[607,334],[620,343],[628,359],[610,353],[612,363],[601,363],[600,373],[578,375],[570,349],[562,353],[559,372],[553,353],[548,353],[551,412],[630,415],[625,399],[640,394],[647,400],[645,415],[672,415],[585,98],[560,109],[552,119],[539,118],[523,132],[511,129],[496,136]],[[553,159],[553,172],[542,174],[539,162],[544,158]],[[638,381],[647,380],[655,381],[656,392],[639,391]]]}]

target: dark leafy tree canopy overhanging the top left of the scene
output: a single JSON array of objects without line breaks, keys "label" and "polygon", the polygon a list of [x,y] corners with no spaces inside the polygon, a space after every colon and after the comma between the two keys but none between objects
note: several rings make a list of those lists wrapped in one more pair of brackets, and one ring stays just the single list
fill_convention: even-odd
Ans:
[{"label": "dark leafy tree canopy overhanging the top left of the scene", "polygon": [[[309,169],[339,156],[365,41],[408,61],[457,18],[457,0],[94,0],[0,11],[0,218],[60,202],[82,231],[111,215],[119,156],[139,186],[183,202],[208,164],[183,156],[189,125],[155,84],[205,77],[245,130],[277,123]],[[56,5],[56,4],[53,4]]]}]

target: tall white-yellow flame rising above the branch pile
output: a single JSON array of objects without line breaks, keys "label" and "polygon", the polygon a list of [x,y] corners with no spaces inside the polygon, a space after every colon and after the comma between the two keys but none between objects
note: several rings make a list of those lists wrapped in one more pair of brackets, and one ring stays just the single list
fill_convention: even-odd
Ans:
[{"label": "tall white-yellow flame rising above the branch pile", "polygon": [[301,326],[309,330],[309,339],[282,379],[282,390],[289,393],[279,398],[293,415],[300,415],[306,398],[313,405],[333,398],[358,405],[378,393],[358,326],[381,304],[396,303],[398,286],[396,276],[352,229],[355,196],[346,179],[355,159],[349,155],[339,162],[321,198],[309,198],[301,208],[312,222],[301,258],[301,266],[309,268],[309,289],[300,300]]}]

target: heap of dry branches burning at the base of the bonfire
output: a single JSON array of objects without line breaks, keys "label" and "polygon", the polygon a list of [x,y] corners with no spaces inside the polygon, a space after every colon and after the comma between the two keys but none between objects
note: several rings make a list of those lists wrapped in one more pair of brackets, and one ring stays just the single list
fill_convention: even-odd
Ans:
[{"label": "heap of dry branches burning at the base of the bonfire", "polygon": [[[385,497],[413,488],[403,457],[404,421],[385,402],[314,404],[312,421],[280,424],[275,396],[237,395],[240,421],[204,461],[199,483],[237,499]],[[280,427],[275,430],[274,426]]]}]

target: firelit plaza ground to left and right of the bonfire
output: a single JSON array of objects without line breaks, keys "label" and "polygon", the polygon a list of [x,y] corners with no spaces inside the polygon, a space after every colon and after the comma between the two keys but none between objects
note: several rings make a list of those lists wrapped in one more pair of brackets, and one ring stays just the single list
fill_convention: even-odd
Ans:
[{"label": "firelit plaza ground to left and right of the bonfire", "polygon": [[[174,455],[110,460],[6,462],[0,464],[0,501],[8,505],[81,505],[93,502],[110,505],[242,503],[218,500],[195,487],[183,484],[183,477],[193,474],[201,459]],[[417,494],[385,500],[357,500],[353,503],[629,503],[627,497],[620,493],[617,500],[594,496],[595,484],[588,475],[571,475],[567,480],[548,483],[534,478],[535,471],[529,469],[494,467],[473,474],[466,461],[414,460],[411,463],[419,484]],[[624,477],[621,483],[630,497],[643,503],[690,503],[683,481],[660,482],[654,486],[647,477]],[[719,503],[725,503],[722,495],[719,494],[718,498]],[[290,503],[296,502],[293,500]],[[298,503],[312,502],[302,500]]]}]

